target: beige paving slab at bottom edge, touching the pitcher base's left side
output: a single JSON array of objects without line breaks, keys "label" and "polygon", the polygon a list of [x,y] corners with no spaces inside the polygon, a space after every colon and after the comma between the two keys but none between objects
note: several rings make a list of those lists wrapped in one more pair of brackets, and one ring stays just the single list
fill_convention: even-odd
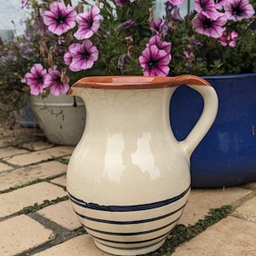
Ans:
[{"label": "beige paving slab at bottom edge, touching the pitcher base's left side", "polygon": [[[94,242],[89,235],[77,236],[68,241],[65,241],[55,247],[34,254],[34,256],[110,256],[109,253],[104,253],[96,248]],[[183,255],[184,256],[184,255]]]}]

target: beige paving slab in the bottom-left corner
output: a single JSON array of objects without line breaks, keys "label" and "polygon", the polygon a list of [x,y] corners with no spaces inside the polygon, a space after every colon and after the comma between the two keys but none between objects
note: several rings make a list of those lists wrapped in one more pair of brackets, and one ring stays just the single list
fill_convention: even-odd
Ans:
[{"label": "beige paving slab in the bottom-left corner", "polygon": [[[26,215],[0,222],[0,255],[11,256],[37,247],[53,238],[54,233]],[[57,254],[55,254],[57,255]]]}]

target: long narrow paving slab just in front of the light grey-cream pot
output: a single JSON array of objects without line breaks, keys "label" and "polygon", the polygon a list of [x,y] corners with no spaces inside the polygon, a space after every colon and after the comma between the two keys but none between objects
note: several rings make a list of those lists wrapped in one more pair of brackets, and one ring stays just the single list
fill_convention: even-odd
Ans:
[{"label": "long narrow paving slab just in front of the light grey-cream pot", "polygon": [[57,147],[30,152],[27,154],[19,154],[13,157],[3,158],[6,162],[15,166],[27,166],[32,165],[43,160],[53,159],[55,157],[65,156],[72,154],[73,147]]}]

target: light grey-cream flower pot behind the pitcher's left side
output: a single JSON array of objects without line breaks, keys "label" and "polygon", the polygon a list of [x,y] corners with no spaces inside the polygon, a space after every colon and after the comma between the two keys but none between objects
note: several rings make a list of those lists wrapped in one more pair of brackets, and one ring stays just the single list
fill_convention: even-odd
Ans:
[{"label": "light grey-cream flower pot behind the pitcher's left side", "polygon": [[85,108],[81,98],[73,96],[31,96],[32,111],[50,143],[76,145],[84,131]]}]

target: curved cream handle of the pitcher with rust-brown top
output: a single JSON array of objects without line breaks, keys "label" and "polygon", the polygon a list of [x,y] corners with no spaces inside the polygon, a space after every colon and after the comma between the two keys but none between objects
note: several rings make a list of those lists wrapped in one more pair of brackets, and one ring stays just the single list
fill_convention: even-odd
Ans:
[{"label": "curved cream handle of the pitcher with rust-brown top", "polygon": [[218,96],[212,85],[205,79],[194,75],[181,75],[176,77],[177,85],[186,84],[193,90],[198,91],[204,101],[204,108],[201,116],[195,126],[189,132],[189,135],[180,143],[181,147],[189,154],[193,153],[195,148],[201,143],[207,131],[210,130],[217,112],[218,112]]}]

